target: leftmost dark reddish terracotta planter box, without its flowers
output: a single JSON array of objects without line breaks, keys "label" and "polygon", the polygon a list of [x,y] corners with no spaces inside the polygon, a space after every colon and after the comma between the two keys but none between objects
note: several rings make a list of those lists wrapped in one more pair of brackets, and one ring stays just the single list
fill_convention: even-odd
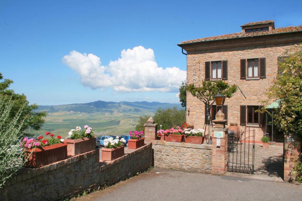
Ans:
[{"label": "leftmost dark reddish terracotta planter box, without its flowers", "polygon": [[24,166],[29,168],[38,168],[67,159],[67,143],[63,142],[42,148],[28,149],[24,152],[24,159],[27,157],[28,159]]}]

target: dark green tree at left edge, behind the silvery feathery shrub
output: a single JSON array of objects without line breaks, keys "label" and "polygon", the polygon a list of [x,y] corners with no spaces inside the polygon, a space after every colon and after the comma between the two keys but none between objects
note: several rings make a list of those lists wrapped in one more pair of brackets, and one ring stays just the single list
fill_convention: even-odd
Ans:
[{"label": "dark green tree at left edge, behind the silvery feathery shrub", "polygon": [[[3,80],[1,73],[0,80]],[[38,105],[29,105],[24,94],[18,94],[15,93],[14,90],[9,89],[11,83],[13,83],[13,81],[9,79],[4,79],[0,82],[0,95],[2,95],[4,101],[9,101],[11,99],[13,102],[9,117],[6,119],[5,124],[9,123],[11,119],[18,114],[20,108],[22,108],[22,113],[19,118],[20,121],[21,119],[24,120],[24,123],[20,128],[21,136],[32,136],[31,133],[33,130],[40,130],[43,126],[43,123],[45,122],[43,118],[46,117],[46,112],[35,112],[35,110],[38,109]]]}]

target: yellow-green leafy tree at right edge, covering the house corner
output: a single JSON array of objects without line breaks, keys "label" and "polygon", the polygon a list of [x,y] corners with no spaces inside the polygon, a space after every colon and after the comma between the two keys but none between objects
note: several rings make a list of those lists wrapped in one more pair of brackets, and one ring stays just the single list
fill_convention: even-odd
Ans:
[{"label": "yellow-green leafy tree at right edge, covering the house corner", "polygon": [[302,44],[287,49],[283,55],[289,57],[278,63],[282,74],[277,75],[266,95],[268,100],[279,102],[273,115],[278,129],[302,137]]}]

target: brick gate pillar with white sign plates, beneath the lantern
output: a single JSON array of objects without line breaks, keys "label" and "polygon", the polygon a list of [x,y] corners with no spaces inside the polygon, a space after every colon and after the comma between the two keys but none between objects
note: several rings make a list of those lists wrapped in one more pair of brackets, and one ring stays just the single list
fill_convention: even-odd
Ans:
[{"label": "brick gate pillar with white sign plates, beneath the lantern", "polygon": [[[228,133],[225,127],[226,120],[214,120],[212,128],[212,174],[224,174],[227,171],[227,140]],[[217,146],[217,139],[220,146]]]}]

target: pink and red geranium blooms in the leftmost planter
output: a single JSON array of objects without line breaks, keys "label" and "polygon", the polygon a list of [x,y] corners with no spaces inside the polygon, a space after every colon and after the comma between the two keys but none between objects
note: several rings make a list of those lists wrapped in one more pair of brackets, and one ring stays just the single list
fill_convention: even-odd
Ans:
[{"label": "pink and red geranium blooms in the leftmost planter", "polygon": [[38,139],[24,137],[22,142],[20,143],[20,147],[24,149],[34,149],[34,148],[42,148],[43,146],[50,146],[53,144],[61,143],[61,136],[54,137],[53,133],[46,132],[45,135],[49,135],[50,138],[43,138],[43,136],[39,136]]}]

